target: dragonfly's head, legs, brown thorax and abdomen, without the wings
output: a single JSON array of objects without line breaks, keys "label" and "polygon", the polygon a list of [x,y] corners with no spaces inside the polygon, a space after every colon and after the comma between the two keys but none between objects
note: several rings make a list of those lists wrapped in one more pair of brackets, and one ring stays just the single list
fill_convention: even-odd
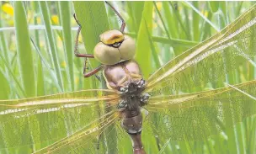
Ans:
[{"label": "dragonfly's head, legs, brown thorax and abdomen, without the wings", "polygon": [[[120,31],[109,30],[99,35],[100,42],[95,46],[93,55],[77,53],[76,43],[75,55],[77,57],[95,58],[102,63],[91,72],[83,72],[83,75],[84,77],[90,77],[103,69],[107,87],[120,92],[121,99],[117,108],[121,113],[121,126],[131,136],[134,153],[144,154],[146,152],[143,150],[141,143],[141,106],[147,104],[149,94],[141,93],[146,86],[146,82],[142,77],[140,66],[132,59],[136,53],[135,41],[130,36],[123,34],[125,21],[120,13],[110,3],[108,4],[123,22]],[[74,18],[77,21],[75,14]],[[79,25],[78,38],[82,27],[78,21],[77,24]]]}]

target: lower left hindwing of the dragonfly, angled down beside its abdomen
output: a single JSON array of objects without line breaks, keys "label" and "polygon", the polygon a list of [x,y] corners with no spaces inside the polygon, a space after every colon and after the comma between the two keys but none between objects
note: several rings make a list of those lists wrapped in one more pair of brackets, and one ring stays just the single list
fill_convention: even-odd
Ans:
[{"label": "lower left hindwing of the dragonfly, angled down beside its abdomen", "polygon": [[34,153],[123,153],[125,141],[131,141],[118,119],[120,113],[113,109],[83,129]]}]

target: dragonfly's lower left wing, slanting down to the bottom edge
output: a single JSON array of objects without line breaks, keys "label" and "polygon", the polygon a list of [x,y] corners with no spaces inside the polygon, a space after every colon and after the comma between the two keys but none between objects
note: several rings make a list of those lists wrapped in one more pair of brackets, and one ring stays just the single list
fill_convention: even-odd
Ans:
[{"label": "dragonfly's lower left wing, slanting down to the bottom edge", "polygon": [[[56,141],[51,146],[46,146],[40,151],[35,151],[35,153],[97,153],[97,151],[104,153],[107,149],[100,147],[100,140],[104,142],[104,131],[109,128],[113,129],[119,116],[119,113],[113,110],[74,134]],[[108,137],[113,138],[113,136]]]}]

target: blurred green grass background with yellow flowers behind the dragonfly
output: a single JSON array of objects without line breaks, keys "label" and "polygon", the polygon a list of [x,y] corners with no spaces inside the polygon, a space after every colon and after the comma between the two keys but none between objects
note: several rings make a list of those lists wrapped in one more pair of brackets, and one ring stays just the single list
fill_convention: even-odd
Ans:
[{"label": "blurred green grass background with yellow flowers behind the dragonfly", "polygon": [[[136,61],[147,78],[232,23],[254,2],[111,3],[125,19],[125,34],[136,40]],[[83,25],[81,53],[93,53],[105,30],[120,29],[120,20],[104,2],[0,3],[0,99],[102,87],[94,76],[83,78],[84,59],[73,55],[75,12]],[[89,69],[98,65],[89,61]],[[239,70],[236,75],[243,82],[255,77],[255,68],[249,75]],[[256,153],[256,120],[248,118],[236,127],[230,135],[222,133],[208,141],[167,141],[163,147],[170,149],[168,153]],[[148,153],[159,151],[154,140],[145,141]]]}]

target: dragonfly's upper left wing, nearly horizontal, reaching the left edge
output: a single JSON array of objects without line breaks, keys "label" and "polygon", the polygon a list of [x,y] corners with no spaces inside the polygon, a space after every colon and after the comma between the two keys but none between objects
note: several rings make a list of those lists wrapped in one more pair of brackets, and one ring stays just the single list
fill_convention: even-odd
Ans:
[{"label": "dragonfly's upper left wing, nearly horizontal, reaching the left edge", "polygon": [[104,89],[1,100],[0,153],[49,146],[113,112],[118,102],[115,91]]}]

